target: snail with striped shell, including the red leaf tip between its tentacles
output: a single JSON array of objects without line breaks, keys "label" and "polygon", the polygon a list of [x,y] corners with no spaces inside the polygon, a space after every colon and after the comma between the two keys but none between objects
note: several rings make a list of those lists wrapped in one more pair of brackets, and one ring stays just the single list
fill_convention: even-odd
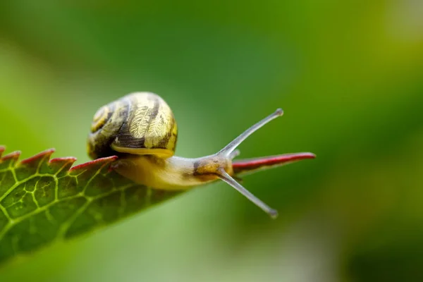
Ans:
[{"label": "snail with striped shell, including the red leaf tip between its tentacles", "polygon": [[113,168],[122,176],[151,188],[187,190],[221,179],[275,218],[278,212],[252,195],[237,180],[241,173],[280,166],[312,153],[282,154],[233,161],[248,136],[282,116],[276,109],[241,133],[216,154],[188,159],[174,156],[178,129],[171,108],[152,92],[134,92],[102,106],[94,115],[87,152],[92,159],[118,155]]}]

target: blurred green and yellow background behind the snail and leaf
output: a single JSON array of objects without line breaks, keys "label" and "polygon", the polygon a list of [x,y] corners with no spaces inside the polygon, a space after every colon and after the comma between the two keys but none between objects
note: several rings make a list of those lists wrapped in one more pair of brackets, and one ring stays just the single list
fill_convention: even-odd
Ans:
[{"label": "blurred green and yellow background behind the snail and leaf", "polygon": [[0,281],[423,281],[423,1],[0,1],[0,144],[88,161],[94,112],[160,94],[177,154],[314,152],[0,269]]}]

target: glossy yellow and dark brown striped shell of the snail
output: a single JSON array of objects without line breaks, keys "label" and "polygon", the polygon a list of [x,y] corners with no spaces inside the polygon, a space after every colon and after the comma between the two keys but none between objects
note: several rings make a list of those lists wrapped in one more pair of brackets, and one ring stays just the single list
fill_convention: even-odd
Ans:
[{"label": "glossy yellow and dark brown striped shell of the snail", "polygon": [[94,115],[87,151],[92,159],[116,152],[171,157],[178,129],[171,108],[157,94],[135,92]]}]

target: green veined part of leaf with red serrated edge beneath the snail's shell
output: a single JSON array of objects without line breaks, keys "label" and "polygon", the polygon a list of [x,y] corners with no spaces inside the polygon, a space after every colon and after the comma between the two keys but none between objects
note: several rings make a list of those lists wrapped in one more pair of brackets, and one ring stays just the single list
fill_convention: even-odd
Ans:
[{"label": "green veined part of leaf with red serrated edge beneath the snail's shell", "polygon": [[71,168],[76,159],[50,159],[54,149],[20,162],[20,152],[1,157],[3,152],[0,147],[0,264],[180,193],[123,178],[110,169],[117,157]]}]

